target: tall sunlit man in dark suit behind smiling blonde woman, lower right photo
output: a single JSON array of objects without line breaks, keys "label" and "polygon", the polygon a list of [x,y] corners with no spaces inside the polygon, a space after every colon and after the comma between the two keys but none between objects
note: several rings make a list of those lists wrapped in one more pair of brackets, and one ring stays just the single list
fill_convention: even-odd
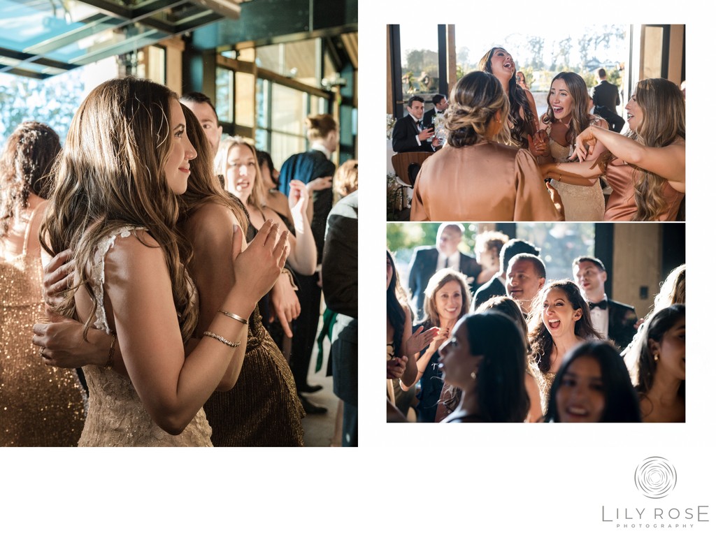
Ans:
[{"label": "tall sunlit man in dark suit behind smiling blonde woman, lower right photo", "polygon": [[478,275],[480,275],[482,267],[474,257],[465,255],[458,250],[458,245],[463,240],[463,232],[465,232],[465,227],[460,223],[444,222],[437,229],[435,247],[417,247],[413,251],[408,287],[418,318],[422,317],[422,304],[425,300],[427,281],[432,275],[435,275],[437,270],[453,268],[468,278],[470,293],[477,288]]}]

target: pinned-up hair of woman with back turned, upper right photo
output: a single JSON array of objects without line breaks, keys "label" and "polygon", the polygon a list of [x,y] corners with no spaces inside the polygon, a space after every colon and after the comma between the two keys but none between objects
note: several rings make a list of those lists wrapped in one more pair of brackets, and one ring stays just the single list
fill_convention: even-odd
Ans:
[{"label": "pinned-up hair of woman with back turned, upper right photo", "polygon": [[[490,123],[502,114],[500,131],[489,137]],[[487,72],[470,72],[460,78],[450,94],[445,129],[452,147],[469,147],[483,140],[508,143],[510,103],[500,81]]]}]

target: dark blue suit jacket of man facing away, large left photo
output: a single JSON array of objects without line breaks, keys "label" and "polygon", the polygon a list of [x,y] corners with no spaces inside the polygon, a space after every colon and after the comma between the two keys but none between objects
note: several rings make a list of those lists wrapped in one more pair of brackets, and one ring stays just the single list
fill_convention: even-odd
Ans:
[{"label": "dark blue suit jacket of man facing away, large left photo", "polygon": [[[289,183],[291,180],[301,180],[304,184],[308,184],[316,178],[333,176],[336,172],[336,166],[332,161],[326,158],[326,154],[319,150],[309,150],[294,154],[286,159],[284,165],[281,166],[281,175],[279,175],[279,189],[284,195],[289,195],[291,189]],[[316,248],[318,249],[318,259],[323,256],[323,241],[326,235],[326,218],[328,212],[331,211],[333,205],[333,190],[316,191],[313,193],[314,215],[311,220],[311,232],[313,232],[314,240],[316,240]]]}]

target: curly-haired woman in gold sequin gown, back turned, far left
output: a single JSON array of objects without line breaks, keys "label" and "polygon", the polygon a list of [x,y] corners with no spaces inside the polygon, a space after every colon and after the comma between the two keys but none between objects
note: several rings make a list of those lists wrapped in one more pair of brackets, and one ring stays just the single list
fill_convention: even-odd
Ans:
[{"label": "curly-haired woman in gold sequin gown, back turned, far left", "polygon": [[52,128],[24,122],[0,157],[0,446],[77,446],[84,423],[77,373],[48,368],[30,342],[44,316],[39,194],[59,152]]}]

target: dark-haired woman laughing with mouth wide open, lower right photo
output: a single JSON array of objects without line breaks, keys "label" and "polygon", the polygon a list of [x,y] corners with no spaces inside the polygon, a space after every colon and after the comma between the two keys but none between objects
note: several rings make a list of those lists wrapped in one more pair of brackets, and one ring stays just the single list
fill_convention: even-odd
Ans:
[{"label": "dark-haired woman laughing with mouth wide open, lower right photo", "polygon": [[589,305],[579,286],[566,279],[555,280],[540,290],[527,323],[533,356],[530,365],[540,388],[544,414],[564,355],[584,340],[601,337],[591,324]]}]

